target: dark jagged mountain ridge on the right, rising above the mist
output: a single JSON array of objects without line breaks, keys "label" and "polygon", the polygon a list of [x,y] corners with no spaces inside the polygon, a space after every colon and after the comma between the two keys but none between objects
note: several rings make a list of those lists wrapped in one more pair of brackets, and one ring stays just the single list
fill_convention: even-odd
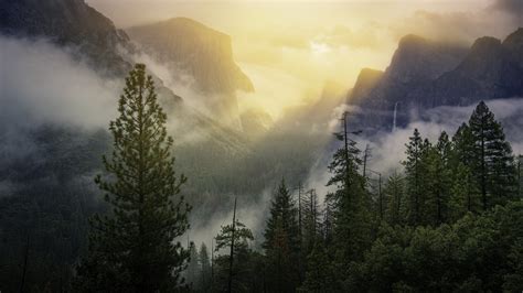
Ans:
[{"label": "dark jagged mountain ridge on the right, rising above the mist", "polygon": [[504,42],[480,37],[470,48],[404,36],[383,76],[372,79],[369,69],[360,74],[348,102],[365,116],[354,117],[354,122],[389,128],[397,109],[396,122],[405,126],[413,115],[434,107],[523,95],[522,34],[519,29]]}]

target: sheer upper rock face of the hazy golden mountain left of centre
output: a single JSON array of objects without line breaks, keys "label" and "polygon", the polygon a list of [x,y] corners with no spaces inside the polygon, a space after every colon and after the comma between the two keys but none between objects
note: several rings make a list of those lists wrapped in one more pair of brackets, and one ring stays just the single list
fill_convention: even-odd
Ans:
[{"label": "sheer upper rock face of the hazy golden mountain left of centre", "polygon": [[196,21],[177,18],[131,28],[132,40],[163,63],[194,77],[209,94],[253,91],[254,86],[233,59],[231,37]]}]

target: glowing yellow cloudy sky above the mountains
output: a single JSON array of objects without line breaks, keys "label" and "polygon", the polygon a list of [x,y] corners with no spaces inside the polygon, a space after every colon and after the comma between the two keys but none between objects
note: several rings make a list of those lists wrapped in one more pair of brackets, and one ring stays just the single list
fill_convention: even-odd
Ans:
[{"label": "glowing yellow cloudy sky above the mountains", "polygon": [[273,116],[318,98],[325,80],[349,89],[362,68],[385,69],[403,35],[470,45],[523,26],[520,0],[86,2],[122,29],[185,17],[231,35],[235,59],[257,88],[241,95],[241,107],[259,102]]}]

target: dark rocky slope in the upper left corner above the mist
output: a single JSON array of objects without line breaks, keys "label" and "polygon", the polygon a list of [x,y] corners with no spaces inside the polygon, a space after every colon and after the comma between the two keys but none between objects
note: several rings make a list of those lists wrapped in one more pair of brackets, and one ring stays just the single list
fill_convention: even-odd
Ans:
[{"label": "dark rocky slope in the upper left corner above the mist", "polygon": [[120,76],[131,68],[118,50],[132,51],[130,40],[84,0],[17,0],[0,2],[0,33],[45,37],[70,46],[98,72]]}]

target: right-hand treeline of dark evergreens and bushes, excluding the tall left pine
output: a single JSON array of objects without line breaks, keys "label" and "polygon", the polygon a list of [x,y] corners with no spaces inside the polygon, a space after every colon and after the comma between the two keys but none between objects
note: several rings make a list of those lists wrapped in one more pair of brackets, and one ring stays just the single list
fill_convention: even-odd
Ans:
[{"label": "right-hand treeline of dark evergreens and bushes, excluding the tall left pine", "polygon": [[452,138],[430,142],[416,129],[404,171],[384,186],[348,134],[337,133],[324,203],[285,181],[275,191],[262,251],[241,223],[234,243],[222,228],[215,259],[191,247],[193,291],[521,292],[522,158],[484,102]]}]

